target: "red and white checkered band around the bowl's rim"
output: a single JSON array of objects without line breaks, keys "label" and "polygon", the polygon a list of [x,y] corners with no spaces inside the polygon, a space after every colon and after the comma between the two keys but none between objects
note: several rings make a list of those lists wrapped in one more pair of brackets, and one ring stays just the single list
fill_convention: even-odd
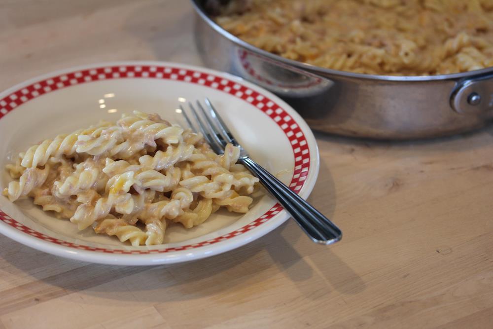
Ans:
[{"label": "red and white checkered band around the bowl's rim", "polygon": [[[18,106],[43,94],[86,82],[122,78],[155,78],[184,81],[217,89],[227,94],[233,95],[237,98],[243,99],[245,102],[265,112],[272,120],[274,120],[290,141],[294,154],[294,172],[289,187],[293,191],[298,193],[305,184],[305,180],[310,169],[310,151],[308,147],[308,141],[306,140],[303,131],[293,120],[293,118],[291,118],[287,111],[284,110],[275,101],[271,100],[269,97],[266,97],[265,95],[262,95],[261,93],[250,89],[240,82],[225,78],[223,76],[215,75],[213,73],[201,72],[200,70],[177,68],[167,65],[115,65],[65,73],[49,77],[32,83],[28,86],[22,87],[1,99],[0,119],[4,117],[9,111],[12,111]],[[262,223],[273,218],[281,211],[282,207],[279,204],[275,204],[262,216],[253,220],[249,224],[228,234],[207,241],[202,241],[200,243],[165,249],[142,250],[96,248],[56,239],[47,236],[46,234],[37,232],[34,229],[25,226],[24,224],[21,224],[20,222],[5,214],[1,209],[0,220],[16,228],[17,230],[29,234],[35,238],[79,250],[109,254],[162,254],[182,250],[190,250],[231,239],[261,225]]]}]

